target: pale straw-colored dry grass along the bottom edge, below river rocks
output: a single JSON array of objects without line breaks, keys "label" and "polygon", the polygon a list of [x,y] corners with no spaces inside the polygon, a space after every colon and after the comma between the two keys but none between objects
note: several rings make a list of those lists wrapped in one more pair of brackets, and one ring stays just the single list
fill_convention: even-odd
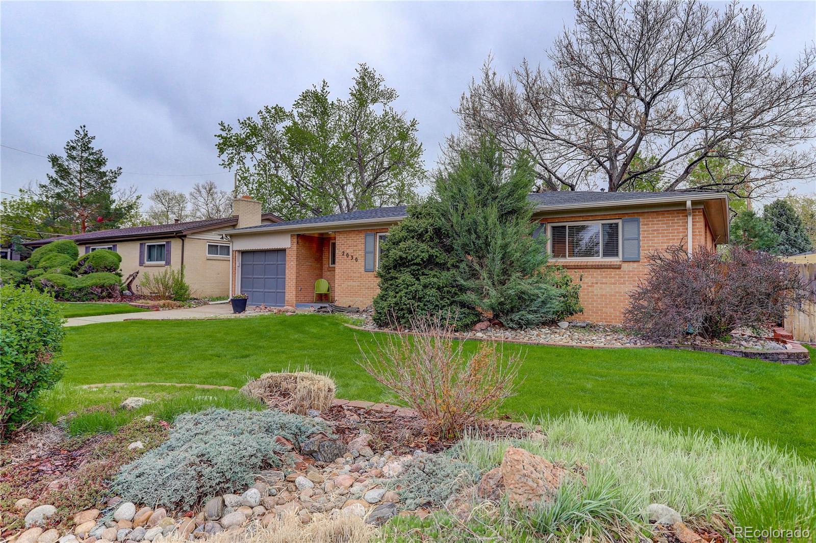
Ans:
[{"label": "pale straw-colored dry grass along the bottom edge, below river rocks", "polygon": [[[246,527],[242,532],[220,532],[206,539],[207,543],[367,543],[378,530],[353,515],[315,514],[312,522],[301,523],[294,514],[274,519],[266,528],[259,524]],[[164,543],[186,543],[187,540],[170,537]]]}]

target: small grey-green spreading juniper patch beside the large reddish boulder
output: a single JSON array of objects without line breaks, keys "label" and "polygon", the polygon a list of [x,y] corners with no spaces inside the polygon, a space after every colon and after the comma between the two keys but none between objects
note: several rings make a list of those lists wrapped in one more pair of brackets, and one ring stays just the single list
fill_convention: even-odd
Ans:
[{"label": "small grey-green spreading juniper patch beside the large reddish boulder", "polygon": [[384,479],[389,488],[400,488],[401,505],[412,510],[418,507],[441,507],[463,488],[479,482],[477,466],[450,457],[448,454],[423,454],[412,458],[401,475]]}]

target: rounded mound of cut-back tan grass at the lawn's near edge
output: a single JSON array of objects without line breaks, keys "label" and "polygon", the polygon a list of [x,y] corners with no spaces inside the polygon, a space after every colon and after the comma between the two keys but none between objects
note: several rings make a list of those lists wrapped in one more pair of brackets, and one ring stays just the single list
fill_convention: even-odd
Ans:
[{"label": "rounded mound of cut-back tan grass at the lawn's near edge", "polygon": [[335,399],[335,382],[317,373],[264,373],[241,392],[273,408],[305,415],[307,409],[326,411]]}]

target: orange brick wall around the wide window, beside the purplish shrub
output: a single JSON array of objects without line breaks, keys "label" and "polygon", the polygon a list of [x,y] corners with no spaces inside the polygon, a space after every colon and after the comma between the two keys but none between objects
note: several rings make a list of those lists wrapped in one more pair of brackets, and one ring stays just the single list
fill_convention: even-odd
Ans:
[{"label": "orange brick wall around the wide window, beside the purplish shrub", "polygon": [[[581,305],[583,313],[574,316],[576,320],[592,320],[620,324],[623,322],[623,310],[628,305],[628,292],[636,287],[637,282],[645,277],[649,264],[649,254],[654,250],[665,249],[668,245],[687,245],[687,226],[685,210],[650,211],[623,214],[576,215],[543,219],[548,224],[582,220],[623,219],[640,217],[641,219],[641,260],[638,262],[621,261],[552,261],[567,268],[574,280],[581,280]],[[692,244],[713,245],[711,230],[707,229],[703,210],[692,210]]]}]

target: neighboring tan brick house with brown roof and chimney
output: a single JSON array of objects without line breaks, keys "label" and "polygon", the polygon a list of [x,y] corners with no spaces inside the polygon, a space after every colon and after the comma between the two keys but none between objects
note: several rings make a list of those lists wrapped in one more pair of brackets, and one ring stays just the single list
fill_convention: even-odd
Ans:
[{"label": "neighboring tan brick house with brown roof and chimney", "polygon": [[[228,227],[245,227],[279,222],[273,214],[261,214],[259,202],[247,197],[233,202],[233,217],[205,219],[144,227],[113,228],[73,236],[52,237],[29,241],[25,245],[36,249],[51,241],[73,240],[79,253],[96,249],[111,249],[122,255],[122,276],[139,271],[135,280],[138,294],[145,272],[161,272],[165,267],[178,269],[184,265],[184,279],[195,296],[226,296],[229,291],[229,241],[216,233]],[[246,221],[246,222],[242,222]]]}]

